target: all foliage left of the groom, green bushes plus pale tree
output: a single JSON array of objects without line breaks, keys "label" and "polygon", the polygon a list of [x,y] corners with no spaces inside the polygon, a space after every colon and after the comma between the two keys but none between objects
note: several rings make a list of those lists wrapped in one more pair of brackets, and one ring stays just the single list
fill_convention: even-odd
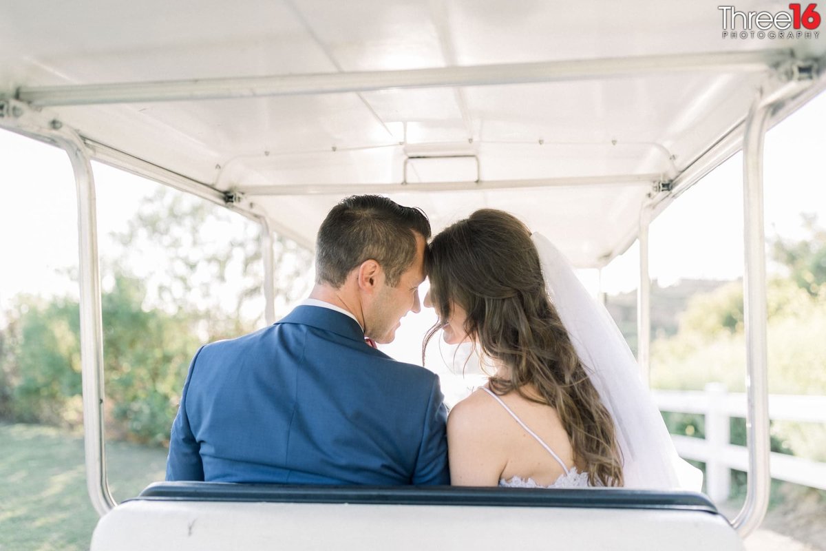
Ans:
[{"label": "all foliage left of the groom, green bushes plus pale tree", "polygon": [[[241,222],[241,223],[239,223]],[[162,444],[199,344],[263,317],[259,226],[161,188],[102,261],[107,434]],[[309,252],[276,238],[277,306],[306,292]],[[83,424],[78,302],[18,297],[0,330],[0,418]]]}]

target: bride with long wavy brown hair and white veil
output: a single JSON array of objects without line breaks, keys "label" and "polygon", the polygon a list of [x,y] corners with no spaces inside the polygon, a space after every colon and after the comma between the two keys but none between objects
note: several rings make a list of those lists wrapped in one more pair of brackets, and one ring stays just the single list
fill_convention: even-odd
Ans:
[{"label": "bride with long wavy brown hair and white veil", "polygon": [[548,240],[482,209],[429,257],[425,346],[442,330],[495,369],[450,412],[454,485],[700,489],[616,325]]}]

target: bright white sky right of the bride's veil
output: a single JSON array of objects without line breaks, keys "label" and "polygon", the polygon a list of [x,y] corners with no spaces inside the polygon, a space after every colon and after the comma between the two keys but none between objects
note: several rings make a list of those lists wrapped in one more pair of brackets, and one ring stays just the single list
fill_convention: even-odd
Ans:
[{"label": "bright white sky right of the bride's veil", "polygon": [[[826,226],[826,93],[768,132],[764,155],[766,235],[803,237],[802,212]],[[649,232],[651,277],[663,286],[681,278],[743,275],[743,156],[736,154],[668,207]],[[637,287],[638,247],[603,270],[607,292]],[[770,266],[771,269],[771,266]]]}]

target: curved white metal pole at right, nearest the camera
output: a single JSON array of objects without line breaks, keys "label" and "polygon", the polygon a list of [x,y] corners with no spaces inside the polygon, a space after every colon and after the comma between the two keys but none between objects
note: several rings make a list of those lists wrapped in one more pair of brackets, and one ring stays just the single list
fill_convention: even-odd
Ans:
[{"label": "curved white metal pole at right, nearest the camera", "polygon": [[748,483],[743,509],[732,525],[745,538],[763,520],[769,501],[769,407],[766,348],[766,231],[763,226],[763,139],[773,103],[758,98],[749,112],[743,141],[743,212],[748,411]]}]

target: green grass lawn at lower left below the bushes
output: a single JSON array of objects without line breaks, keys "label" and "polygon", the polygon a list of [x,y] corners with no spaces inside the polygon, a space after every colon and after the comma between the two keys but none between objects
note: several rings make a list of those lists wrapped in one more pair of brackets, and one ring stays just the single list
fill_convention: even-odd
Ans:
[{"label": "green grass lawn at lower left below the bushes", "polygon": [[[164,478],[166,449],[112,442],[106,452],[116,501]],[[96,524],[83,437],[42,425],[0,424],[0,550],[89,549]]]}]

